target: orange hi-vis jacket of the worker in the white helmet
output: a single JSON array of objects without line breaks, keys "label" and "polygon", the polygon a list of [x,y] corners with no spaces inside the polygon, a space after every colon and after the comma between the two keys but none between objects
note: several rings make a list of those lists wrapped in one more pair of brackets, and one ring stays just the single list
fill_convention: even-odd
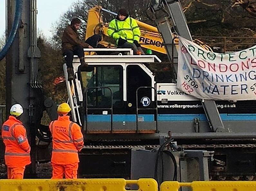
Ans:
[{"label": "orange hi-vis jacket of the worker in the white helmet", "polygon": [[9,116],[2,127],[2,138],[5,144],[5,164],[7,167],[24,167],[31,163],[26,129],[20,120],[14,116]]}]

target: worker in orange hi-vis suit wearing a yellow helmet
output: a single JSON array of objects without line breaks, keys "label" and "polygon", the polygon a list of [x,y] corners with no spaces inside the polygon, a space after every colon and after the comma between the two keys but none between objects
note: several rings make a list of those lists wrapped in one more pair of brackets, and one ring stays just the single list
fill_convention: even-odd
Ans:
[{"label": "worker in orange hi-vis suit wearing a yellow helmet", "polygon": [[59,105],[58,120],[50,123],[52,133],[52,179],[77,179],[78,152],[83,147],[83,134],[76,123],[70,121],[69,104]]}]

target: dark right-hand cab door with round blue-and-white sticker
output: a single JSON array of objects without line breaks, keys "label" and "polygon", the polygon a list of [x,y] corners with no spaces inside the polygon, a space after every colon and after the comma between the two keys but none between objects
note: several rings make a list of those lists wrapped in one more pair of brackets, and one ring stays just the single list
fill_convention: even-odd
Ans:
[{"label": "dark right-hand cab door with round blue-and-white sticker", "polygon": [[154,78],[142,64],[127,64],[126,112],[136,115],[137,133],[155,133],[157,129],[157,106]]}]

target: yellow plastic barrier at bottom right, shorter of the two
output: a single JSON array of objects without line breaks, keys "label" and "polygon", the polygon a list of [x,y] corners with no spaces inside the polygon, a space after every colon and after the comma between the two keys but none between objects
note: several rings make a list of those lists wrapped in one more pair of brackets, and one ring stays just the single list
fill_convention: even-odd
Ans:
[{"label": "yellow plastic barrier at bottom right, shorter of the two", "polygon": [[166,181],[161,184],[160,191],[179,191],[180,187],[191,187],[192,191],[256,191],[256,181]]}]

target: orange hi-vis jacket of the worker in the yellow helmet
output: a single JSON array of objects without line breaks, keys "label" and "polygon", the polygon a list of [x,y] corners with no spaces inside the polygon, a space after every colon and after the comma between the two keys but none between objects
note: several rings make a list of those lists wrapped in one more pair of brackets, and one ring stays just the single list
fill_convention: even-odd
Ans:
[{"label": "orange hi-vis jacket of the worker in the yellow helmet", "polygon": [[49,125],[52,133],[52,163],[71,164],[79,162],[78,151],[83,147],[83,134],[69,116],[59,116]]}]

